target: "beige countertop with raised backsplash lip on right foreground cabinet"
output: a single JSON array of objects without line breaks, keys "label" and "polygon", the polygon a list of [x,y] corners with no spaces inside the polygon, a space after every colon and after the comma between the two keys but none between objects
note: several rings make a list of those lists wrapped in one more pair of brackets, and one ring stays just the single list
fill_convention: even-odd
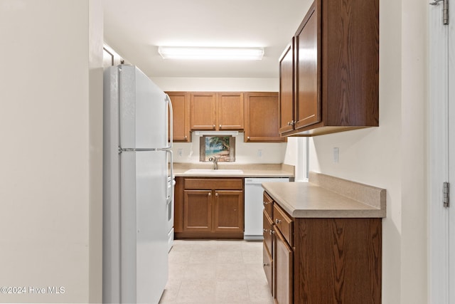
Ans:
[{"label": "beige countertop with raised backsplash lip on right foreground cabinet", "polygon": [[309,182],[262,187],[294,218],[383,218],[385,189],[310,172]]}]

